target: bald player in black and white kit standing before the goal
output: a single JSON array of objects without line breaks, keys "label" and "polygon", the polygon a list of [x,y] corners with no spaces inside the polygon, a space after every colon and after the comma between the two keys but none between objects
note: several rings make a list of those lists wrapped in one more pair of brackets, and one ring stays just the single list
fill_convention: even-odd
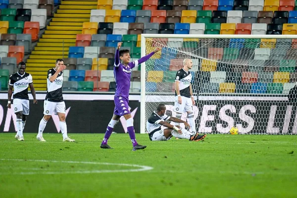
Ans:
[{"label": "bald player in black and white kit standing before the goal", "polygon": [[192,74],[189,71],[193,67],[193,62],[189,58],[183,61],[183,68],[178,70],[175,76],[175,104],[174,111],[176,118],[181,119],[182,113],[188,113],[188,123],[191,126],[192,134],[196,133],[193,105],[195,100],[191,86]]}]

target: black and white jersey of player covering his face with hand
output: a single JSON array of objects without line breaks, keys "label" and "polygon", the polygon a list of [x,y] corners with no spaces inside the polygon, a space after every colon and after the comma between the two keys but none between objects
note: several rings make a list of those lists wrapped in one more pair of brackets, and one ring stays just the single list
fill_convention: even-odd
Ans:
[{"label": "black and white jersey of player covering his face with hand", "polygon": [[48,71],[48,93],[46,96],[46,100],[51,102],[62,102],[63,72],[61,71],[52,83],[49,81],[49,77],[53,76],[55,72],[55,68],[49,69]]}]

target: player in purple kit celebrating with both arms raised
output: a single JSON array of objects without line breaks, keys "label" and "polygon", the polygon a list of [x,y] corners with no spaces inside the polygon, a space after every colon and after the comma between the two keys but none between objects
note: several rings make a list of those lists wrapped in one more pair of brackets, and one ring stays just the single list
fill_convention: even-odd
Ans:
[{"label": "player in purple kit celebrating with both arms raised", "polygon": [[107,141],[112,133],[114,126],[119,122],[121,116],[124,116],[127,122],[127,129],[133,144],[133,150],[144,149],[147,146],[139,145],[135,139],[135,131],[133,127],[133,118],[129,110],[129,90],[131,81],[131,71],[134,67],[147,61],[154,53],[161,50],[156,48],[148,55],[141,57],[139,60],[130,62],[130,51],[128,49],[119,50],[122,42],[119,42],[114,55],[113,74],[116,83],[116,91],[114,94],[114,111],[113,116],[107,126],[103,141],[100,148],[111,148],[107,145]]}]

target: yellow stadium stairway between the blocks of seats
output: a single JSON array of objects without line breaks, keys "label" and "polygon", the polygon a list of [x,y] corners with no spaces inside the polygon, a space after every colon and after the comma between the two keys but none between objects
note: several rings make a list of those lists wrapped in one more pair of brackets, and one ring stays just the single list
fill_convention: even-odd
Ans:
[{"label": "yellow stadium stairway between the blocks of seats", "polygon": [[97,9],[98,0],[62,0],[59,9],[46,28],[42,38],[27,59],[28,73],[37,91],[47,90],[47,71],[55,59],[67,58],[70,46],[75,46],[76,35],[82,33],[83,22],[90,21],[91,9]]}]

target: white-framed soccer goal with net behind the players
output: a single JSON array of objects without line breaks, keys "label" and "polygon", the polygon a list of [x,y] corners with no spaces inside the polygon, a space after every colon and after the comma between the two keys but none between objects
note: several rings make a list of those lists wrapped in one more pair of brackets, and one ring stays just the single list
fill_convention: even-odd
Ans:
[{"label": "white-framed soccer goal with net behind the players", "polygon": [[[193,61],[194,113],[199,133],[297,134],[296,35],[142,35],[141,133],[158,103],[175,116],[175,75]],[[186,120],[187,113],[182,119]],[[174,123],[173,123],[174,124]]]}]

